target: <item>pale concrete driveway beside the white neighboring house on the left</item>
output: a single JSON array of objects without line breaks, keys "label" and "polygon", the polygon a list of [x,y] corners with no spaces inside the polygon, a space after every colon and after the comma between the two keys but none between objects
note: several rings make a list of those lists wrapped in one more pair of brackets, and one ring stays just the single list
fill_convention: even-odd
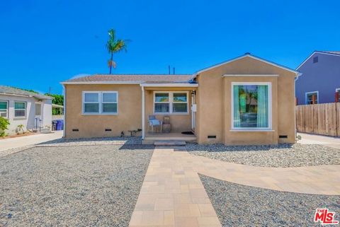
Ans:
[{"label": "pale concrete driveway beside the white neighboring house on the left", "polygon": [[45,141],[62,138],[62,131],[55,131],[48,134],[35,134],[31,136],[20,136],[16,138],[1,139],[0,152],[8,149],[17,149],[22,146],[40,144]]}]

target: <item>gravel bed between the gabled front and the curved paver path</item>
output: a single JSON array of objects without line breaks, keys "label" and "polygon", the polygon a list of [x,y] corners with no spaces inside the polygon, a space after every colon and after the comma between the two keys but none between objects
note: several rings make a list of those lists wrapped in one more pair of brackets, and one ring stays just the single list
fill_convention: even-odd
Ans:
[{"label": "gravel bed between the gabled front and the curved paver path", "polygon": [[189,153],[229,163],[266,167],[339,165],[340,150],[319,144],[225,146],[187,144]]}]

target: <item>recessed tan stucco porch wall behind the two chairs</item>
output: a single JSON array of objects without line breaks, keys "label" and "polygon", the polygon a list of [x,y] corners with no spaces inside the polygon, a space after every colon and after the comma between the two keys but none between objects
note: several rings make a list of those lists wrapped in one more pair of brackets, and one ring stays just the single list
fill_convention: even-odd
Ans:
[{"label": "recessed tan stucco porch wall behind the two chairs", "polygon": [[191,91],[196,88],[145,88],[145,127],[148,130],[148,116],[154,115],[154,91],[188,91],[188,114],[156,115],[158,120],[170,117],[171,132],[191,131]]}]

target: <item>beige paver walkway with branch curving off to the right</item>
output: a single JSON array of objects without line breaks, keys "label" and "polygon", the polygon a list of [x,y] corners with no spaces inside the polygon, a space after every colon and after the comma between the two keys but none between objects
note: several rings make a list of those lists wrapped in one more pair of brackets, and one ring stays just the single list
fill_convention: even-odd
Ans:
[{"label": "beige paver walkway with branch curving off to the right", "polygon": [[340,194],[340,165],[266,168],[156,148],[130,226],[221,226],[198,173],[272,190]]}]

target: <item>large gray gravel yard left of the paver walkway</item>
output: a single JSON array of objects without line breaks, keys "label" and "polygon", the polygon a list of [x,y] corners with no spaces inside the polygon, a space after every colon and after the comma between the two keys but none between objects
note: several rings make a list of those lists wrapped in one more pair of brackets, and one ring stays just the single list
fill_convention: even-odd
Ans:
[{"label": "large gray gravel yard left of the paver walkway", "polygon": [[0,226],[128,226],[153,146],[35,147],[0,158]]}]

